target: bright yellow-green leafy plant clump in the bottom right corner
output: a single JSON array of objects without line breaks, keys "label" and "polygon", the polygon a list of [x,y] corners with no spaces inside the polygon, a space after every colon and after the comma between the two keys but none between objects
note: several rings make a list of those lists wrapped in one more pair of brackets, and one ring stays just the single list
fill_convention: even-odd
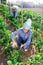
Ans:
[{"label": "bright yellow-green leafy plant clump in the bottom right corner", "polygon": [[27,59],[30,62],[30,65],[38,65],[38,63],[41,63],[41,54],[37,53],[32,55],[30,58]]}]

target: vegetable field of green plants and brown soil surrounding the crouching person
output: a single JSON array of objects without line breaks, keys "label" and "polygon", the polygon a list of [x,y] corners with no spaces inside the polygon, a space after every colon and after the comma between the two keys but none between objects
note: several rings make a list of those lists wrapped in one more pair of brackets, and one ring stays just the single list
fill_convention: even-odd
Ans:
[{"label": "vegetable field of green plants and brown soil surrounding the crouching person", "polygon": [[[18,17],[11,18],[9,6],[0,4],[0,46],[2,46],[3,53],[7,59],[7,65],[43,65],[43,15],[34,11],[23,10],[23,23],[32,17],[32,41],[31,45],[36,48],[36,53],[27,54],[18,49],[11,49],[12,31],[17,30],[23,26],[22,10],[19,10]],[[30,46],[31,47],[31,46]],[[31,51],[32,49],[30,49]],[[29,55],[30,54],[30,55]],[[1,53],[0,53],[1,55]],[[26,56],[27,55],[27,56]]]}]

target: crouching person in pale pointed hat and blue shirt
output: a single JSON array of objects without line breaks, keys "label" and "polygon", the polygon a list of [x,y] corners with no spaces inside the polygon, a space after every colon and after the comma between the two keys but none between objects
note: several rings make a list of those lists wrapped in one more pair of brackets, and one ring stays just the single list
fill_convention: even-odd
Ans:
[{"label": "crouching person in pale pointed hat and blue shirt", "polygon": [[32,38],[32,31],[31,31],[31,19],[28,19],[25,23],[24,23],[24,26],[23,28],[21,29],[18,29],[17,31],[15,32],[12,32],[11,34],[11,38],[12,38],[12,47],[16,47],[14,46],[15,44],[15,41],[14,41],[14,37],[16,36],[16,41],[17,41],[17,44],[20,46],[20,48],[24,48],[25,51],[28,51],[28,47],[31,43],[31,38]]}]

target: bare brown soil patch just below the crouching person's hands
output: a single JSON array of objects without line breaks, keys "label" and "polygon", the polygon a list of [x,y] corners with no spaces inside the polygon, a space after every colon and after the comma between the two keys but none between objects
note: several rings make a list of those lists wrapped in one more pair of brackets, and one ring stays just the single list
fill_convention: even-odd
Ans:
[{"label": "bare brown soil patch just below the crouching person's hands", "polygon": [[24,54],[21,55],[23,62],[27,62],[26,58],[28,58],[32,54],[36,53],[36,52],[34,52],[32,45],[29,46],[28,51],[24,51],[24,49],[21,49],[20,52],[24,52]]}]

